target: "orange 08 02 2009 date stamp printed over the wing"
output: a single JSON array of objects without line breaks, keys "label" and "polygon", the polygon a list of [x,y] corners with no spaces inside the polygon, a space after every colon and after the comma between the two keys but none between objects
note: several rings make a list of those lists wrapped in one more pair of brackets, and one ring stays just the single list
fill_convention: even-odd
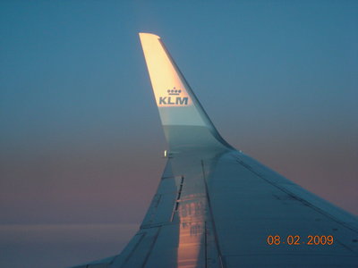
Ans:
[{"label": "orange 08 02 2009 date stamp printed over the wing", "polygon": [[318,236],[318,235],[308,235],[307,237],[301,237],[299,235],[288,235],[286,237],[281,237],[279,235],[268,235],[266,242],[269,246],[278,246],[278,245],[333,245],[334,239],[333,236]]}]

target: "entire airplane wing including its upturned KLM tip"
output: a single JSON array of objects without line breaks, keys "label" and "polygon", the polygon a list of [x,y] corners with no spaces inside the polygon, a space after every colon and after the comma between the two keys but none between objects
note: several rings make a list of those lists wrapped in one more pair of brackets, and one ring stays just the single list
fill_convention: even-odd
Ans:
[{"label": "entire airplane wing including its upturned KLM tip", "polygon": [[77,267],[358,267],[358,220],[221,138],[162,40],[141,45],[169,149],[120,255]]}]

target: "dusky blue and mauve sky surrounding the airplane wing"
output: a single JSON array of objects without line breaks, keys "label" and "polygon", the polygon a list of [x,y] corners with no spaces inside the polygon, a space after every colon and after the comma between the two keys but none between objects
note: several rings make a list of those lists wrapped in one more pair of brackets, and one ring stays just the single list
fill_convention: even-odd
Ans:
[{"label": "dusky blue and mauve sky surrounding the airplane wing", "polygon": [[358,2],[2,1],[0,266],[118,254],[166,159],[139,32],[223,138],[358,214]]}]

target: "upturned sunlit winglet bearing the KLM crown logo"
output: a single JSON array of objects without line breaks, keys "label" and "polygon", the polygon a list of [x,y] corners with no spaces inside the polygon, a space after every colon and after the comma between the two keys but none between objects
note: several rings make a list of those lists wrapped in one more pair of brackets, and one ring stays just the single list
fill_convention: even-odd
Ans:
[{"label": "upturned sunlit winglet bearing the KLM crown logo", "polygon": [[232,148],[209,120],[160,37],[140,33],[140,38],[170,149]]}]

